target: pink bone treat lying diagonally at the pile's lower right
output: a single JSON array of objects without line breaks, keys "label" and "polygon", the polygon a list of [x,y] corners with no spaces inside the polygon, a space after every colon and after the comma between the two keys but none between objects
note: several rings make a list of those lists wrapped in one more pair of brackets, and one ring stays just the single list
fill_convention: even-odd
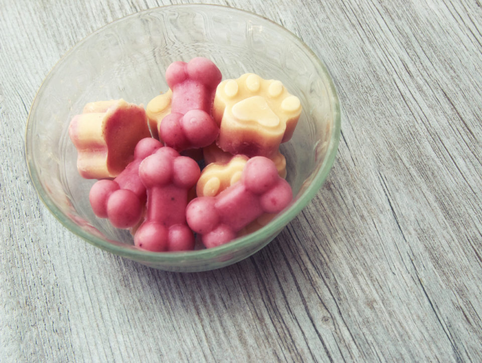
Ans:
[{"label": "pink bone treat lying diagonally at the pile's lower right", "polygon": [[201,235],[206,248],[229,242],[264,213],[282,211],[293,198],[275,163],[255,156],[246,163],[239,182],[215,197],[198,197],[186,208],[189,227]]}]

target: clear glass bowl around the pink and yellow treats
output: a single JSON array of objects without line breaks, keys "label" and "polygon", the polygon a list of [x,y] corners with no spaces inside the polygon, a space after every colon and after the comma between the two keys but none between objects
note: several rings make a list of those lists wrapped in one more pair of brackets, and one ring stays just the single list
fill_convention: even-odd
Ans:
[{"label": "clear glass bowl around the pink and yellow treats", "polygon": [[[165,69],[203,56],[223,79],[253,72],[278,79],[303,112],[282,144],[293,203],[264,228],[223,246],[189,252],[148,252],[132,236],[92,213],[95,180],[80,177],[68,125],[87,102],[124,98],[146,105],[168,89]],[[325,180],[338,147],[340,109],[323,63],[296,36],[260,16],[222,6],[176,5],[117,20],[85,38],[53,68],[38,91],[26,129],[26,158],[35,188],[54,216],[89,243],[169,271],[203,271],[257,252],[306,206]]]}]

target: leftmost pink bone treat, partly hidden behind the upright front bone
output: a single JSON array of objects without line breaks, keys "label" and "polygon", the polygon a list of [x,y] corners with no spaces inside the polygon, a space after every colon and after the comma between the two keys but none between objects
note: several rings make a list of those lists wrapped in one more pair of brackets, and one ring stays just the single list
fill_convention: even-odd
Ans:
[{"label": "leftmost pink bone treat, partly hidden behind the upright front bone", "polygon": [[139,178],[139,165],[147,156],[162,147],[161,142],[146,137],[134,149],[134,160],[113,180],[98,180],[90,189],[89,201],[94,214],[108,218],[116,228],[136,225],[146,203],[146,187]]}]

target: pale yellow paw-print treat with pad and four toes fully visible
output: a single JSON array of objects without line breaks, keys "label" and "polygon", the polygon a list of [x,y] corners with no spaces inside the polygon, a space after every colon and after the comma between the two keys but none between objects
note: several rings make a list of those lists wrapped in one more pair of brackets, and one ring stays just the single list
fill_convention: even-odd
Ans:
[{"label": "pale yellow paw-print treat with pad and four toes fully visible", "polygon": [[293,135],[301,103],[280,81],[246,73],[219,84],[212,114],[220,125],[217,144],[221,149],[273,157],[280,143]]}]

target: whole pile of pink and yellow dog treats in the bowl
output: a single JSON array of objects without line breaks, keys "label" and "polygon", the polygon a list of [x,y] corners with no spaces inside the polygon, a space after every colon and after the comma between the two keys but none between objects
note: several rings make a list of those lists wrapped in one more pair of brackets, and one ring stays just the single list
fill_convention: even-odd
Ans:
[{"label": "whole pile of pink and yellow dog treats in the bowl", "polygon": [[146,110],[97,101],[70,122],[79,173],[99,179],[93,212],[129,229],[139,248],[192,250],[195,235],[219,246],[263,227],[293,198],[279,146],[300,100],[256,74],[221,79],[206,58],[174,62],[169,90]]}]

